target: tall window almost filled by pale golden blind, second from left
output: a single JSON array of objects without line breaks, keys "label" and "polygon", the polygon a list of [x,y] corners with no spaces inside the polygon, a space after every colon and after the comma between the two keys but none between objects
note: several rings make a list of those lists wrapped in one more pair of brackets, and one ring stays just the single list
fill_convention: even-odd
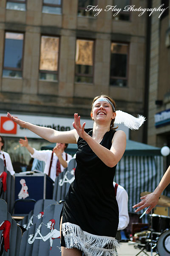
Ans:
[{"label": "tall window almost filled by pale golden blind, second from left", "polygon": [[41,37],[40,79],[58,80],[59,38]]}]

